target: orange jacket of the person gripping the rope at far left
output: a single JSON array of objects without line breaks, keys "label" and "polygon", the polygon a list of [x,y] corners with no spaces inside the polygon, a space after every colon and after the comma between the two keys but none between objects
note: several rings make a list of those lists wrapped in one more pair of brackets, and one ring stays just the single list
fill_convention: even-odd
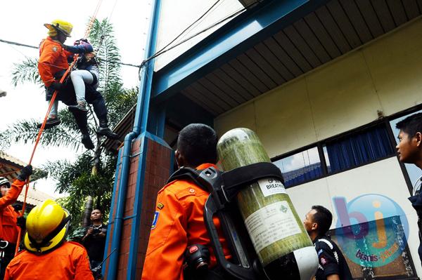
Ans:
[{"label": "orange jacket of the person gripping the rope at far left", "polygon": [[25,185],[25,182],[15,180],[8,193],[0,198],[0,239],[6,240],[11,244],[16,244],[19,230],[18,225],[16,225],[18,213],[11,205],[18,199],[23,185]]}]

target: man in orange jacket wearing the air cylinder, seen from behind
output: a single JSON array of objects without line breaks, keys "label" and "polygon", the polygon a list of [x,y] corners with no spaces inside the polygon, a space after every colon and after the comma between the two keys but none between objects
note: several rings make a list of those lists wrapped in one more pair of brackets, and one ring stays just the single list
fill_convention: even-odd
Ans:
[{"label": "man in orange jacket wearing the air cylinder, seen from behind", "polygon": [[[174,153],[179,168],[198,170],[215,166],[217,135],[205,124],[190,124],[183,128]],[[184,253],[188,246],[201,244],[210,251],[209,273],[217,273],[210,237],[203,220],[205,202],[209,196],[190,180],[174,180],[158,192],[151,234],[143,264],[142,279],[184,279]],[[221,229],[219,220],[214,220]],[[220,235],[221,236],[221,235]],[[220,237],[224,255],[230,258],[226,240]],[[219,273],[219,272],[218,272]]]}]

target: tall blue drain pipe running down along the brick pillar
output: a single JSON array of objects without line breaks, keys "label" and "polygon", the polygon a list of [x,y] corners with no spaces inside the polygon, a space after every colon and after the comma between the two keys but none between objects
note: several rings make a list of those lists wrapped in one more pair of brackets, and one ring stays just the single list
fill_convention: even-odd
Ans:
[{"label": "tall blue drain pipe running down along the brick pillar", "polygon": [[[155,46],[156,39],[155,33],[158,32],[158,13],[159,13],[159,3],[160,0],[153,0],[152,3],[152,15],[150,26],[148,30],[148,38],[146,40],[146,50],[145,50],[145,58],[150,57],[153,55],[155,49],[151,48],[151,46]],[[154,33],[154,34],[153,34]],[[148,73],[147,73],[148,72]],[[134,128],[133,130],[126,135],[124,138],[124,146],[123,146],[123,156],[122,156],[122,171],[120,173],[120,182],[119,182],[119,190],[117,195],[117,209],[116,215],[114,219],[114,230],[113,230],[113,239],[111,241],[111,249],[110,251],[114,251],[114,253],[110,257],[110,264],[108,265],[108,274],[107,279],[116,279],[117,275],[117,265],[118,265],[118,256],[120,253],[120,239],[122,237],[122,225],[123,225],[123,213],[124,213],[124,202],[126,199],[127,193],[127,181],[129,178],[129,164],[131,159],[131,152],[132,152],[132,140],[134,140],[139,134],[141,133],[141,126],[146,121],[143,120],[144,118],[148,117],[148,106],[149,106],[149,98],[151,97],[151,93],[148,93],[148,90],[151,91],[151,84],[152,84],[152,76],[153,76],[153,60],[147,62],[146,66],[143,68],[140,74],[140,83],[139,83],[139,96],[138,102],[136,102],[136,113],[135,113],[135,120],[134,120]]]}]

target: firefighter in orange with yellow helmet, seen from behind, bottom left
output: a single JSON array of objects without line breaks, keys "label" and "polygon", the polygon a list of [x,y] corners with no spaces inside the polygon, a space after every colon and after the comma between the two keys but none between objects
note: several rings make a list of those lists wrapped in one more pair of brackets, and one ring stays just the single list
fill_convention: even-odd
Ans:
[{"label": "firefighter in orange with yellow helmet, seen from behind, bottom left", "polygon": [[47,199],[27,216],[24,251],[11,260],[5,280],[94,280],[87,251],[65,241],[70,215]]}]

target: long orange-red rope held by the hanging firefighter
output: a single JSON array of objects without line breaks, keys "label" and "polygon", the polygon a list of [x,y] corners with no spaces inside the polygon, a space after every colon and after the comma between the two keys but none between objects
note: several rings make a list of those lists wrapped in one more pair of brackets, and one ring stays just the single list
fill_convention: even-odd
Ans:
[{"label": "long orange-red rope held by the hanging firefighter", "polygon": [[[89,25],[87,26],[87,31],[85,32],[85,36],[84,36],[85,38],[87,38],[87,36],[89,36],[89,33],[91,32],[92,25],[94,25],[94,20],[96,18],[96,15],[98,13],[98,10],[99,10],[99,8],[101,6],[101,2],[102,1],[103,0],[99,0],[98,1],[98,4],[97,4],[96,9],[94,11],[94,15],[91,18],[91,20],[89,21]],[[79,57],[79,54],[76,54],[74,56],[72,63],[70,64],[70,66],[66,70],[65,74],[63,74],[63,76],[61,77],[60,84],[63,84],[63,81],[65,81],[66,77],[68,76],[68,74],[70,72],[70,69],[72,69],[73,65],[75,65],[75,62],[76,62],[76,60],[77,60],[78,57]],[[39,128],[37,139],[35,140],[34,149],[32,149],[32,154],[31,154],[31,158],[30,158],[29,164],[32,164],[32,159],[34,159],[35,150],[37,149],[39,140],[41,140],[41,135],[44,132],[44,128],[46,126],[46,121],[49,118],[51,107],[53,107],[53,103],[54,103],[54,100],[56,100],[56,96],[57,96],[57,91],[54,91],[53,96],[51,97],[51,100],[50,100],[49,109],[47,109],[46,115],[44,116],[44,121],[42,122],[41,128]],[[24,196],[24,199],[23,199],[22,211],[20,211],[20,217],[22,217],[23,216],[23,213],[25,213],[26,199],[27,199],[27,194],[28,194],[28,189],[29,188],[30,188],[30,178],[27,178],[26,185],[25,185],[25,196]],[[22,229],[20,227],[18,227],[18,241],[16,242],[15,255],[19,251],[19,244],[20,244],[20,239],[21,238],[22,238]]]}]

